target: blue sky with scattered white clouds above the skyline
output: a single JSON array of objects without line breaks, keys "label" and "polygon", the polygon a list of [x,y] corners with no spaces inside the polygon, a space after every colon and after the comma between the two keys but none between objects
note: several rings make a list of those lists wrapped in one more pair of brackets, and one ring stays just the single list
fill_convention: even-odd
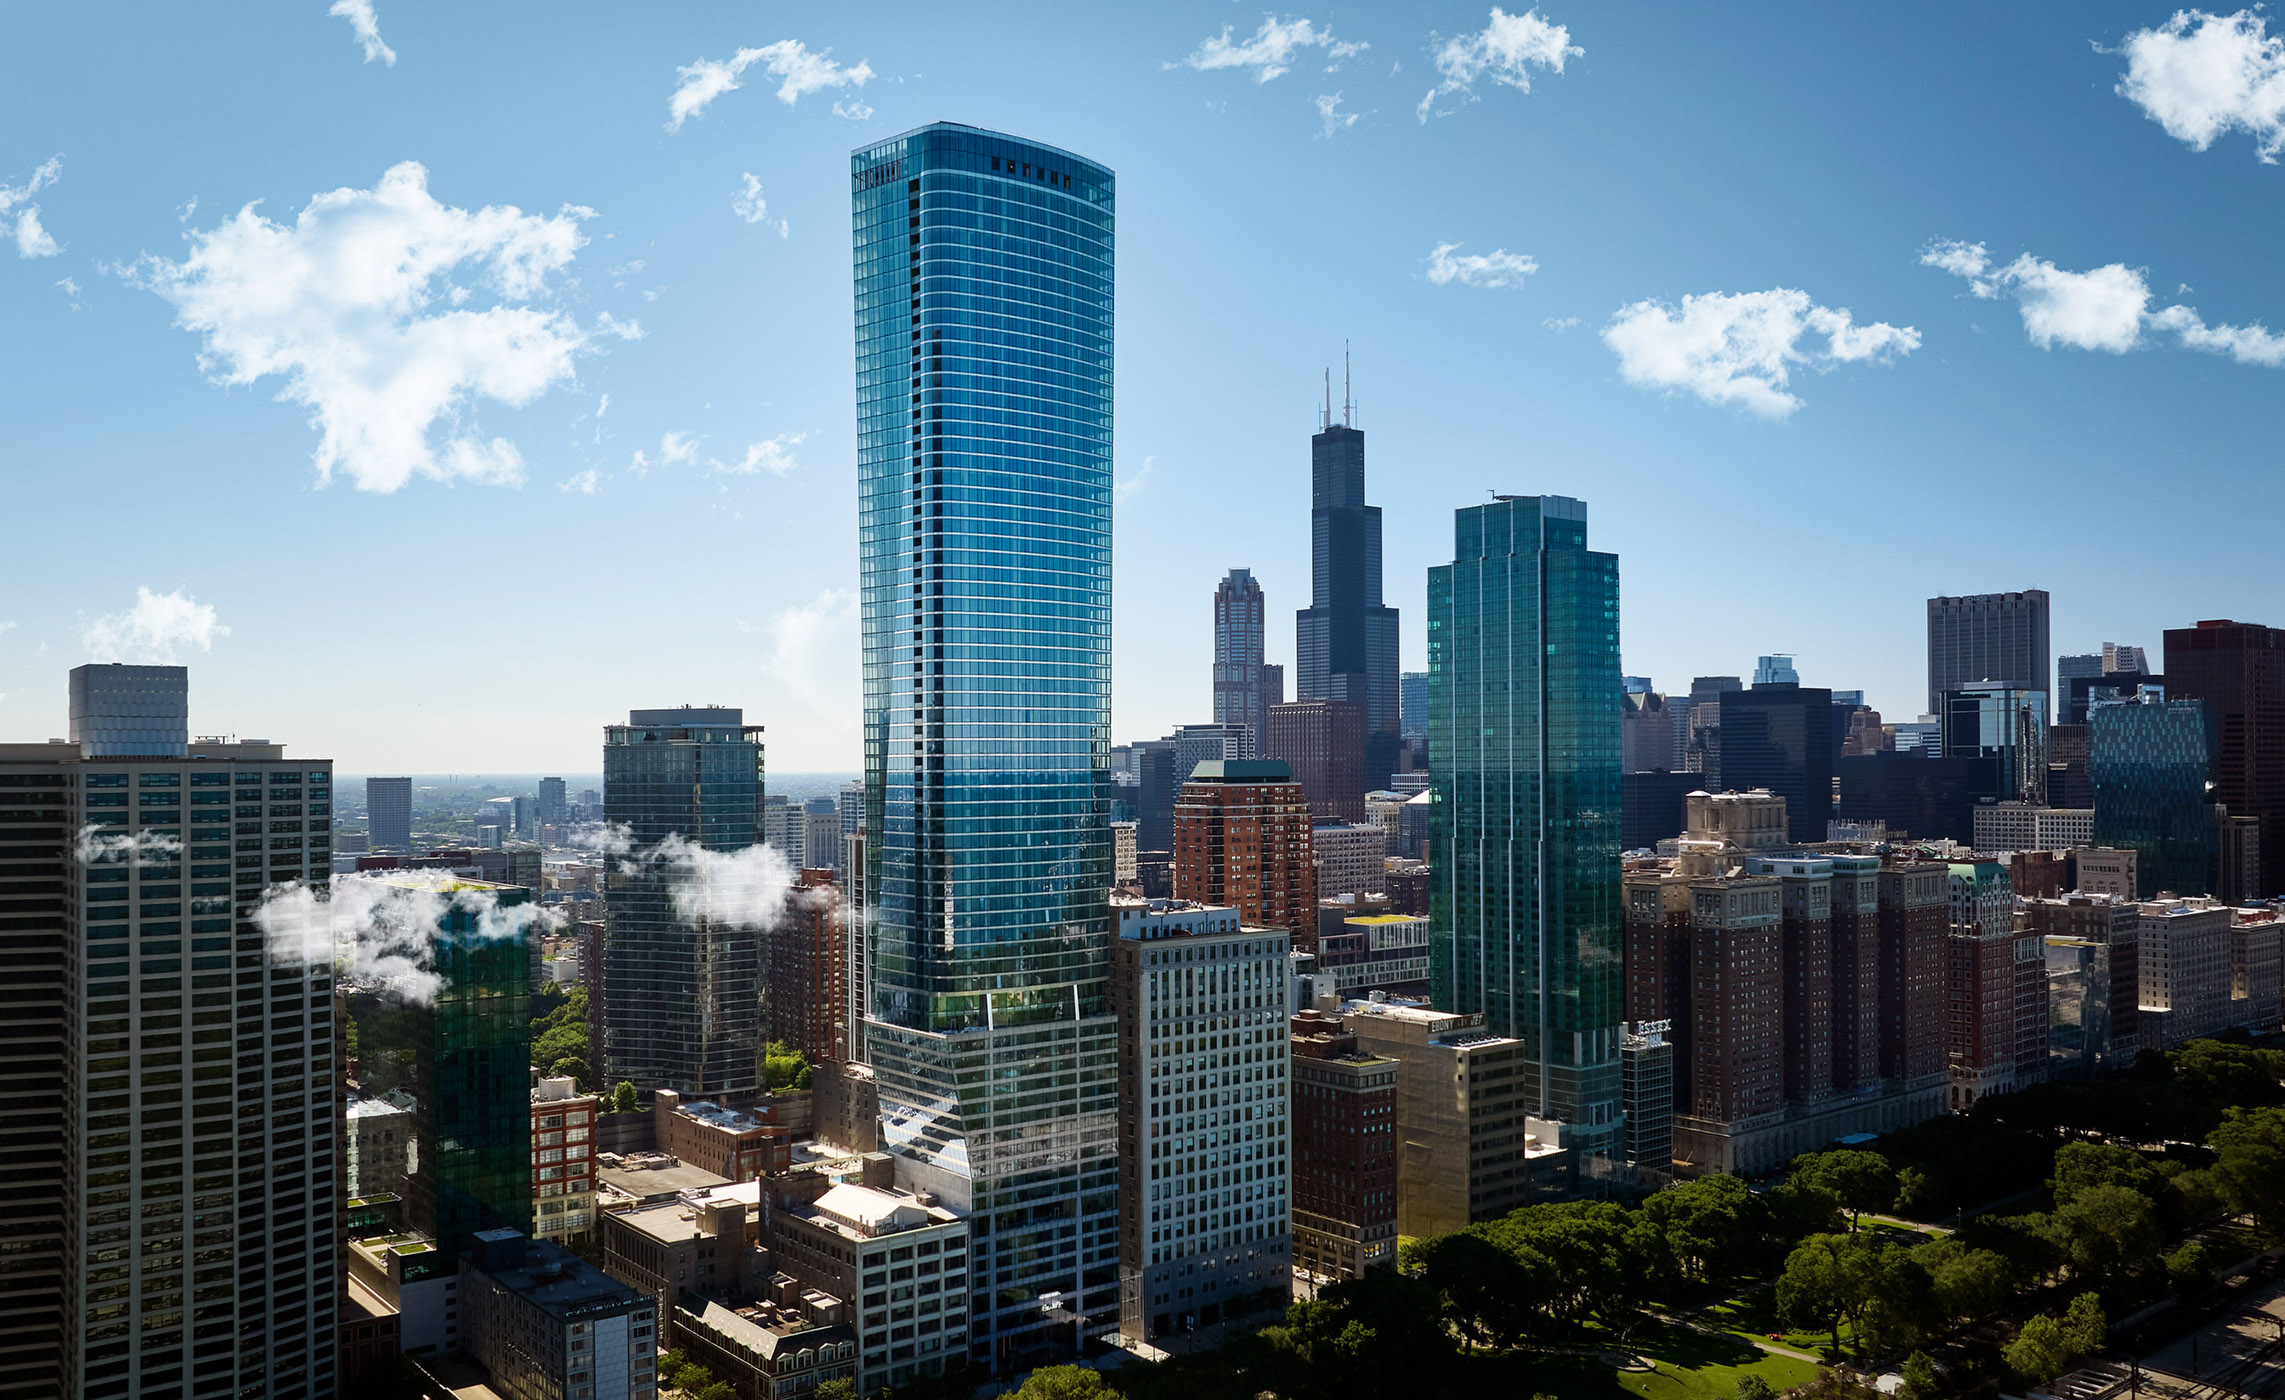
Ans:
[{"label": "blue sky with scattered white clouds above the skyline", "polygon": [[[2271,32],[2271,27],[2276,32]],[[2164,5],[16,5],[0,738],[82,660],[345,772],[592,772],[635,706],[859,765],[848,153],[1117,171],[1115,740],[1307,605],[1353,363],[1405,667],[1488,491],[1588,502],[1629,674],[1924,703],[2285,621],[2285,16]]]}]

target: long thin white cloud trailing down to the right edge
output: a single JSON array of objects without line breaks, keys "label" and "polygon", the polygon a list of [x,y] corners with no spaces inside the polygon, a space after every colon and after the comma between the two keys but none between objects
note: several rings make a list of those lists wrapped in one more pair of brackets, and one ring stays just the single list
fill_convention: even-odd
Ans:
[{"label": "long thin white cloud trailing down to the right edge", "polygon": [[2146,347],[2150,333],[2164,333],[2182,349],[2226,354],[2242,365],[2285,365],[2285,336],[2262,324],[2210,327],[2189,306],[2152,311],[2150,281],[2141,267],[2107,263],[2091,272],[2066,272],[2031,254],[1995,267],[1981,242],[1935,242],[1919,260],[1967,279],[1967,290],[1986,301],[2013,297],[2025,336],[2041,349],[2063,345],[2125,354]]}]

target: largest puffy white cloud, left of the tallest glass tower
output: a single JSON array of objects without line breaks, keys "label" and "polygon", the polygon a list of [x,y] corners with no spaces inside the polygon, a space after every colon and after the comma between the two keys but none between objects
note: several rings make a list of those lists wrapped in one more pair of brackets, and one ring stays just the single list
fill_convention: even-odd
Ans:
[{"label": "largest puffy white cloud, left of the tallest glass tower", "polygon": [[[555,215],[452,208],[427,192],[427,169],[407,160],[372,190],[313,196],[292,224],[249,203],[192,231],[181,263],[146,254],[117,272],[174,304],[176,324],[203,338],[199,363],[219,384],[286,379],[279,397],[306,404],[320,429],[320,480],[343,470],[363,491],[395,491],[414,475],[516,482],[521,459],[505,438],[462,429],[475,402],[523,407],[571,379],[596,333],[642,333],[608,315],[587,331],[562,311],[530,306],[571,265],[590,217],[578,206]],[[468,306],[457,269],[496,304]],[[439,418],[457,434],[443,452],[430,443]]]}]

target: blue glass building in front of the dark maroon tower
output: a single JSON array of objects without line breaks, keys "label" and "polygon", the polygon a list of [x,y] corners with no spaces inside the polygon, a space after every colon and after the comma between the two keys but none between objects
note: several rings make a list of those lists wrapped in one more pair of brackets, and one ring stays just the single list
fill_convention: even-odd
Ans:
[{"label": "blue glass building in front of the dark maroon tower", "polygon": [[2088,838],[2134,852],[2136,895],[2214,888],[2216,827],[2207,804],[2212,749],[2200,701],[2146,699],[2086,717]]}]

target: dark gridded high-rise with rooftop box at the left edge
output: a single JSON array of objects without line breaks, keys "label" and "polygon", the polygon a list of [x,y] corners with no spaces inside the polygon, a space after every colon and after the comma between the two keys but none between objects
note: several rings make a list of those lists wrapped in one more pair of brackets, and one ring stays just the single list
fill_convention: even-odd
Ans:
[{"label": "dark gridded high-rise with rooftop box at the left edge", "polygon": [[338,1384],[334,767],[192,742],[187,690],[80,667],[71,740],[0,745],[11,1400]]}]

